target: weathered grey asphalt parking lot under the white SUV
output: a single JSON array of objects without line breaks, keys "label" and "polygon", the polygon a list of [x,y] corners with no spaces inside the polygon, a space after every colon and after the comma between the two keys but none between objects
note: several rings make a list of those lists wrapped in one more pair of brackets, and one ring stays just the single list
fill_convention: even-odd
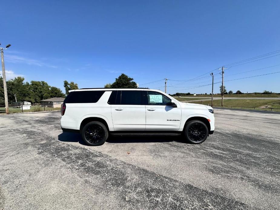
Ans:
[{"label": "weathered grey asphalt parking lot under the white SUV", "polygon": [[280,114],[215,109],[200,145],[85,146],[59,112],[0,116],[0,209],[280,209]]}]

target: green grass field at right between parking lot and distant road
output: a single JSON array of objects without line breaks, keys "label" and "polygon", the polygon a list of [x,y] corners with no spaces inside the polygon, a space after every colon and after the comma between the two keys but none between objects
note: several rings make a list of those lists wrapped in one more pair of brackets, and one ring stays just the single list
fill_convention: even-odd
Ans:
[{"label": "green grass field at right between parking lot and distant road", "polygon": [[[201,104],[201,101],[195,101],[193,103]],[[213,106],[221,106],[222,100],[213,100]],[[211,101],[203,101],[204,105],[211,105]],[[254,108],[245,108],[245,107],[262,107],[270,106],[269,108],[277,108],[280,111],[280,100],[267,100],[267,99],[226,99],[224,100],[224,106],[232,106],[232,108],[241,108],[243,109],[254,109]],[[257,110],[270,110],[259,108]]]}]

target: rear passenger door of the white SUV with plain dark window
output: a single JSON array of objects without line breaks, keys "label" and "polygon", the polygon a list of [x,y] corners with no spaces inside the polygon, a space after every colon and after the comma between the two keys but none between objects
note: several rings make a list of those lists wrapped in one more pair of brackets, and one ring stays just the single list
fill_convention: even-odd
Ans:
[{"label": "rear passenger door of the white SUV with plain dark window", "polygon": [[145,105],[140,90],[118,90],[111,101],[115,131],[143,131],[146,126]]}]

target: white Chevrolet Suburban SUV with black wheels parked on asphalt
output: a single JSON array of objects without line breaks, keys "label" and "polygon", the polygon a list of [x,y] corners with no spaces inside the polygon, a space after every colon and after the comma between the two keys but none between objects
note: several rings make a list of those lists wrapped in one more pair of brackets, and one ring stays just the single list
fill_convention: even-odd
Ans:
[{"label": "white Chevrolet Suburban SUV with black wheels parked on asphalt", "polygon": [[91,146],[112,135],[180,135],[194,144],[214,132],[212,107],[182,103],[159,90],[71,90],[61,105],[61,129],[78,132]]}]

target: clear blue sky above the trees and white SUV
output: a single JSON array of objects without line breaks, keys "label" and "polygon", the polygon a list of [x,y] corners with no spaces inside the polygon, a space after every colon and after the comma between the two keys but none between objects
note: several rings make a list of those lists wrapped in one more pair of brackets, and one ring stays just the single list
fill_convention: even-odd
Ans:
[{"label": "clear blue sky above the trees and white SUV", "polygon": [[[7,77],[44,80],[63,91],[64,80],[104,87],[124,73],[141,87],[164,90],[161,79],[168,78],[168,93],[209,93],[211,86],[189,87],[210,84],[206,73],[222,65],[280,50],[280,1],[26,0],[1,6],[0,42],[12,44],[5,51]],[[225,80],[280,71],[242,73],[278,65],[279,58],[231,67]],[[209,77],[187,81],[202,74]],[[225,86],[280,92],[279,79],[278,73]]]}]

